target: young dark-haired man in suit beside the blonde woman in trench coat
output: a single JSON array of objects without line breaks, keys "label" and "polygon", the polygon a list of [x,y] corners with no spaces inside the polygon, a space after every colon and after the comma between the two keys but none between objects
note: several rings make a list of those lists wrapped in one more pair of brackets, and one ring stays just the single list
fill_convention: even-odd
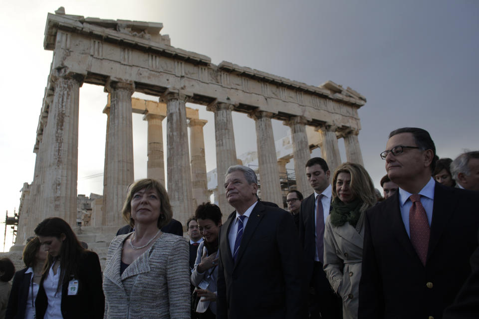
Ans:
[{"label": "young dark-haired man in suit beside the blonde woman in trench coat", "polygon": [[301,202],[299,234],[304,249],[304,275],[309,291],[310,318],[340,319],[341,299],[323,271],[324,222],[329,214],[331,184],[328,164],[321,158],[306,162],[306,176],[314,192]]}]

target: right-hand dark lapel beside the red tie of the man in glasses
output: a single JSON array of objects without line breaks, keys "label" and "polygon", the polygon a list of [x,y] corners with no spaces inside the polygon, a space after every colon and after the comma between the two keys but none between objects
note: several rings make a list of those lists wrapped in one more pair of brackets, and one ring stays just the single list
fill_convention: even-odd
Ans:
[{"label": "right-hand dark lapel beside the red tie of the man in glasses", "polygon": [[451,194],[452,192],[449,189],[436,182],[434,187],[433,219],[431,221],[431,235],[429,238],[426,262],[434,251],[434,248],[437,246],[439,238],[447,227],[448,221],[453,214],[455,202]]}]

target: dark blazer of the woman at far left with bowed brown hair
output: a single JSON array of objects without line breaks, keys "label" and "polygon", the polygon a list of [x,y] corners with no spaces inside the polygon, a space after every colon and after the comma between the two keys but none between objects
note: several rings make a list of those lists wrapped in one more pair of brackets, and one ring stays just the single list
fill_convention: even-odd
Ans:
[{"label": "dark blazer of the woman at far left with bowed brown hair", "polygon": [[6,308],[6,319],[23,319],[25,317],[26,302],[30,289],[30,279],[32,273],[25,274],[28,267],[23,268],[15,273],[13,283],[11,285],[10,297]]}]

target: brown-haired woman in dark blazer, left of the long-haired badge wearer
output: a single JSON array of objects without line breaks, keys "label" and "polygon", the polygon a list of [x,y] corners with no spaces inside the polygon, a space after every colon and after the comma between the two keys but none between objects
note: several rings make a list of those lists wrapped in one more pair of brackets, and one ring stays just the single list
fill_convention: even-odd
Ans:
[{"label": "brown-haired woman in dark blazer, left of the long-haired badge wearer", "polygon": [[35,299],[47,255],[47,252],[40,249],[38,237],[29,238],[23,249],[26,268],[17,271],[13,277],[6,319],[34,318]]}]

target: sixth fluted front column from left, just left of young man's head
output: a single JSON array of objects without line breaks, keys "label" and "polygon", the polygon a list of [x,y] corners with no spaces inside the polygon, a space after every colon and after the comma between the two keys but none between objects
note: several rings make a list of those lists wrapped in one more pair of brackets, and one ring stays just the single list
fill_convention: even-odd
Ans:
[{"label": "sixth fluted front column from left, just left of young man's head", "polygon": [[310,158],[308,136],[306,135],[305,127],[307,121],[303,117],[295,116],[284,123],[291,129],[296,187],[302,194],[308,195],[311,193],[311,186],[308,183],[304,166]]}]

